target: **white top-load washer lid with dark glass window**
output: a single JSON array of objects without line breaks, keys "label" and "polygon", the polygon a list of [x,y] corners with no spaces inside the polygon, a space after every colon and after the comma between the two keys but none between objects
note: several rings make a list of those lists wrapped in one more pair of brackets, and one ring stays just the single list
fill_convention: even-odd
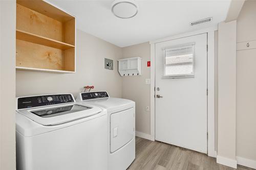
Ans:
[{"label": "white top-load washer lid with dark glass window", "polygon": [[17,110],[17,112],[24,114],[34,122],[45,126],[63,124],[92,116],[101,111],[102,109],[99,107],[78,103]]}]

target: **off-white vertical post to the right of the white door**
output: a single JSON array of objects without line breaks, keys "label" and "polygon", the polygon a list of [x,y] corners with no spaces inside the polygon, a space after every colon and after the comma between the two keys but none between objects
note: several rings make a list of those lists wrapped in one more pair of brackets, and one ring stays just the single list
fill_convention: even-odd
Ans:
[{"label": "off-white vertical post to the right of the white door", "polygon": [[218,156],[236,166],[236,35],[237,21],[218,28]]}]

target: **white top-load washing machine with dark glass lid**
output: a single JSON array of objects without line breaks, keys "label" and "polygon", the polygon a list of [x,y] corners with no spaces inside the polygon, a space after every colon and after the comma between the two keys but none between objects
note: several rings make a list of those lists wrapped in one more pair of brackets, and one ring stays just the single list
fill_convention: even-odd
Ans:
[{"label": "white top-load washing machine with dark glass lid", "polygon": [[17,170],[107,167],[107,114],[72,94],[17,98]]}]

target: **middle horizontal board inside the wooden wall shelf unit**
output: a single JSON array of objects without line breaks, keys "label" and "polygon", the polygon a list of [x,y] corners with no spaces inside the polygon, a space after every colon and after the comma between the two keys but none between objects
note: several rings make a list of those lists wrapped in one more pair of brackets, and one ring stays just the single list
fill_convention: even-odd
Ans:
[{"label": "middle horizontal board inside the wooden wall shelf unit", "polygon": [[74,45],[71,45],[65,42],[60,42],[54,39],[32,34],[26,31],[18,30],[18,29],[16,29],[16,39],[33,42],[33,43],[41,44],[45,46],[50,46],[53,48],[58,48],[60,50],[67,50],[69,48],[75,47]]}]

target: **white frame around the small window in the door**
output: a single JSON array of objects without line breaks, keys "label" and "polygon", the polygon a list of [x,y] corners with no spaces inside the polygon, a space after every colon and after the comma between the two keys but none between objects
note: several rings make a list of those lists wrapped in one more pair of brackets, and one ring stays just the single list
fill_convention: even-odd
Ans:
[{"label": "white frame around the small window in the door", "polygon": [[[165,50],[175,50],[175,49],[179,49],[179,48],[184,48],[184,47],[188,47],[191,46],[193,48],[193,73],[191,74],[186,74],[186,75],[165,75]],[[179,44],[179,45],[174,45],[174,46],[169,46],[169,47],[165,47],[163,48],[163,76],[162,79],[175,79],[175,78],[194,78],[195,77],[195,46],[196,43],[195,42],[191,42],[191,43],[186,43],[186,44]]]}]

